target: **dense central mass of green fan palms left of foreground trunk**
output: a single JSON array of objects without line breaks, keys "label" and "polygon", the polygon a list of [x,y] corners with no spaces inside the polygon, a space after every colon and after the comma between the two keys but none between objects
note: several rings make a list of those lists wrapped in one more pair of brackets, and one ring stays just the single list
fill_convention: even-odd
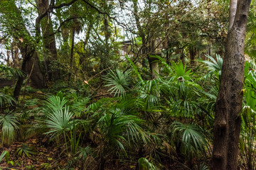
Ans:
[{"label": "dense central mass of green fan palms left of foreground trunk", "polygon": [[[94,164],[92,159],[98,163],[97,168],[102,168],[113,157],[125,160],[129,154],[141,151],[143,154],[133,159],[137,162],[141,158],[139,169],[159,169],[163,157],[176,159],[183,155],[183,164],[188,164],[193,157],[206,156],[210,152],[207,132],[213,123],[218,94],[215,81],[198,78],[202,76],[182,62],[169,65],[160,57],[159,60],[167,72],[154,80],[142,79],[129,59],[138,79],[132,79],[129,71],[110,70],[104,79],[114,98],[95,101],[92,96],[90,100],[73,89],[49,96],[46,133],[64,138],[67,153],[73,157],[82,146],[84,149],[78,153],[87,167]],[[83,139],[90,140],[93,146],[81,145],[85,144]],[[198,169],[207,169],[201,165]]]}]

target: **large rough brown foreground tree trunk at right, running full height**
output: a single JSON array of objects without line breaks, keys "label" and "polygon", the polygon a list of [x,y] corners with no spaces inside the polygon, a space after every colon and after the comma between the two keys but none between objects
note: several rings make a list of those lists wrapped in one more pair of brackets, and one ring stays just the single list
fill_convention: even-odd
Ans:
[{"label": "large rough brown foreground tree trunk at right, running full height", "polygon": [[238,169],[241,90],[245,69],[245,33],[251,0],[238,1],[232,28],[228,31],[220,90],[215,103],[213,170]]}]

